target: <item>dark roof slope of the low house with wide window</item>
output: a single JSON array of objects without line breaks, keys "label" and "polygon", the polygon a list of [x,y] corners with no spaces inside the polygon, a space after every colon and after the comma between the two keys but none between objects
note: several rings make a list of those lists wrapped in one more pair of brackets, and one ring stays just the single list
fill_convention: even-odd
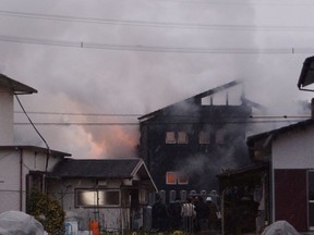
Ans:
[{"label": "dark roof slope of the low house with wide window", "polygon": [[64,159],[51,172],[57,177],[131,178],[142,159]]}]

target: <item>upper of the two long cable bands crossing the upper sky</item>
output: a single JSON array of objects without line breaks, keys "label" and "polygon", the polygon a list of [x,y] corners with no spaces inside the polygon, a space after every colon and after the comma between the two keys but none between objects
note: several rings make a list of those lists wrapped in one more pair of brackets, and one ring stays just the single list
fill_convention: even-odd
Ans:
[{"label": "upper of the two long cable bands crossing the upper sky", "polygon": [[26,13],[16,11],[0,10],[0,15],[25,17],[47,21],[80,22],[92,24],[166,27],[166,28],[189,28],[189,29],[212,29],[212,30],[267,30],[267,32],[313,32],[314,26],[256,26],[256,25],[224,25],[224,24],[197,24],[197,23],[171,23],[171,22],[148,22],[134,20],[112,20],[96,17],[77,17],[55,14]]}]

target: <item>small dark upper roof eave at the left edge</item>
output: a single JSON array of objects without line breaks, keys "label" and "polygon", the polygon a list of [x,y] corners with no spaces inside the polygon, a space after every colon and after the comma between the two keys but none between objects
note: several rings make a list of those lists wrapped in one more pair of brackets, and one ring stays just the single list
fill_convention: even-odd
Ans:
[{"label": "small dark upper roof eave at the left edge", "polygon": [[17,81],[14,81],[3,74],[0,74],[0,87],[5,87],[11,89],[15,95],[33,94],[37,92],[36,89],[26,86]]}]

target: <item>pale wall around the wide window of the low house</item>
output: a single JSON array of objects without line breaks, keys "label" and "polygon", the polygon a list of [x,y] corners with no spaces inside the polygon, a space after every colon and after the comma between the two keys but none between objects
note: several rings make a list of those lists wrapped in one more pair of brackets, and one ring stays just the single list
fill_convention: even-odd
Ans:
[{"label": "pale wall around the wide window of the low house", "polygon": [[78,230],[88,230],[90,220],[97,220],[102,228],[118,231],[129,228],[130,208],[77,208],[75,207],[75,189],[120,189],[120,185],[121,181],[107,181],[106,186],[100,186],[94,178],[52,180],[49,183],[48,194],[60,201],[65,212],[78,215]]}]

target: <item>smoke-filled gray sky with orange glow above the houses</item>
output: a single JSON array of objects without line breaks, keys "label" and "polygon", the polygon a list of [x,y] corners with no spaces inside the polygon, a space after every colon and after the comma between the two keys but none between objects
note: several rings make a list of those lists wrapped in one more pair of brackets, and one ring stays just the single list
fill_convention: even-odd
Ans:
[{"label": "smoke-filled gray sky with orange glow above the houses", "polygon": [[[233,79],[271,115],[297,115],[313,55],[311,0],[0,0],[0,72],[38,90],[23,96],[34,122],[137,122]],[[21,110],[19,107],[15,110]],[[16,122],[26,122],[16,114]],[[74,158],[133,157],[136,125],[38,125]],[[31,126],[16,144],[44,146]]]}]

